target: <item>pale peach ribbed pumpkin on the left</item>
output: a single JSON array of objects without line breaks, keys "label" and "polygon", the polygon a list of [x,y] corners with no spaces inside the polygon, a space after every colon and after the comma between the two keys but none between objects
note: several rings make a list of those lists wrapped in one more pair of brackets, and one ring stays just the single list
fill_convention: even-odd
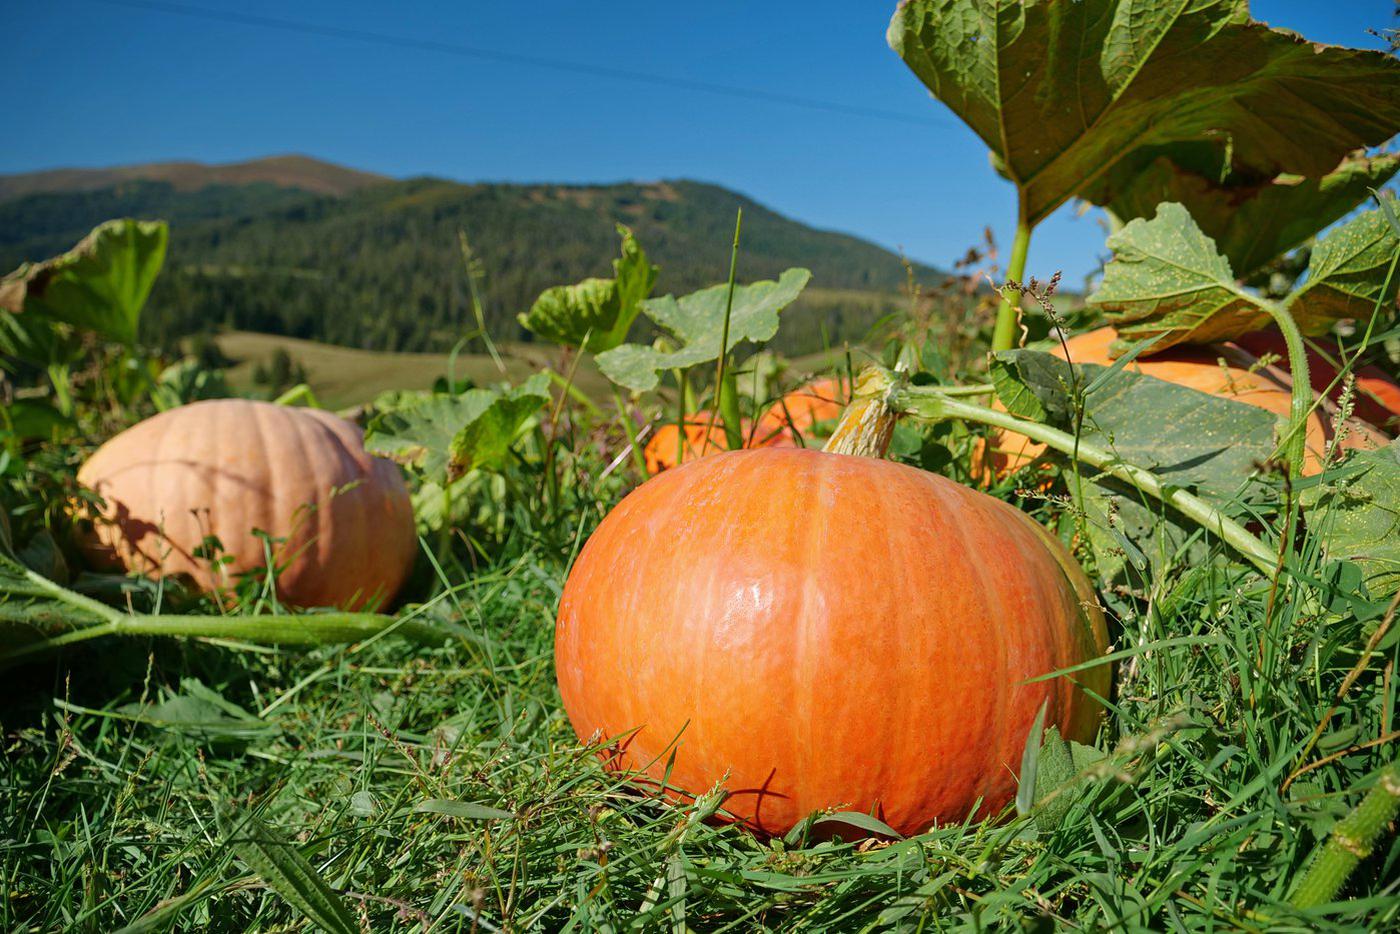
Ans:
[{"label": "pale peach ribbed pumpkin on the left", "polygon": [[[214,399],[157,414],[88,458],[78,482],[105,508],[90,552],[207,591],[265,567],[277,546],[280,599],[358,609],[399,590],[417,550],[399,468],[364,449],[358,427],[328,412]],[[232,560],[196,556],[213,535]]]}]

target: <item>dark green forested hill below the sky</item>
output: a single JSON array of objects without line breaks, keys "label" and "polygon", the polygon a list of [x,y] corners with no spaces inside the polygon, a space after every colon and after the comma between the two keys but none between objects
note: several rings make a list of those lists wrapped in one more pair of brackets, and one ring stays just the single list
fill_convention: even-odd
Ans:
[{"label": "dark green forested hill below the sky", "polygon": [[0,269],[60,252],[108,217],[162,217],[171,253],[146,315],[153,340],[234,328],[370,350],[447,350],[476,329],[459,234],[484,274],[497,339],[529,339],[515,315],[549,286],[609,274],[617,223],[661,266],[657,294],[685,293],[725,279],[742,207],[742,280],[813,273],[780,330],[788,353],[861,339],[906,281],[903,260],[869,241],[703,182],[388,181],[301,157],[169,168],[192,165],[101,169],[120,181],[71,176],[67,189],[62,172],[0,176]]}]

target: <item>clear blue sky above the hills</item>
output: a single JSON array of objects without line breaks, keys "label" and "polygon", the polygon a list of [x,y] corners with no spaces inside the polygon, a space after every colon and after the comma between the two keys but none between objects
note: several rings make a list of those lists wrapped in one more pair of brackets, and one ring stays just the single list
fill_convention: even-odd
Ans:
[{"label": "clear blue sky above the hills", "polygon": [[[606,182],[697,178],[805,223],[946,265],[1012,189],[885,45],[893,0],[0,0],[0,172],[307,153],[388,175]],[[202,7],[795,95],[836,113],[363,38],[178,15]],[[1393,0],[1254,0],[1273,25],[1376,48]],[[392,13],[391,13],[392,10]],[[15,132],[20,127],[20,132]],[[1077,284],[1093,214],[1040,227],[1029,270]],[[722,273],[722,270],[721,270]]]}]

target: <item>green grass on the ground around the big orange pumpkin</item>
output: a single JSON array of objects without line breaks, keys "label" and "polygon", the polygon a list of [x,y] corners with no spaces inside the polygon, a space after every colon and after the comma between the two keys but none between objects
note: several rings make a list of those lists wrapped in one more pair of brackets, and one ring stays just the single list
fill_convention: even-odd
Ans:
[{"label": "green grass on the ground around the big orange pumpkin", "polygon": [[130,640],[7,675],[0,927],[311,930],[244,861],[258,826],[367,930],[1400,924],[1390,839],[1354,877],[1359,898],[1284,903],[1394,752],[1394,640],[1362,661],[1378,622],[1329,620],[1301,584],[1271,601],[1221,566],[1155,581],[1114,630],[1128,657],[1098,744],[1110,758],[1058,826],[760,840],[638,793],[575,739],[552,668],[574,529],[553,532],[448,574],[427,615],[470,634],[441,648]]}]

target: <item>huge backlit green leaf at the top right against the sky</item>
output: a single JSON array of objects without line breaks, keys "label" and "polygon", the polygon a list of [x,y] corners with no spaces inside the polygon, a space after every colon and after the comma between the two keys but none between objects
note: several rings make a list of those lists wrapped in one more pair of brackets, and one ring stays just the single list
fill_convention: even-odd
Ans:
[{"label": "huge backlit green leaf at the top right against the sky", "polygon": [[1400,62],[1270,29],[1246,0],[904,0],[889,43],[1030,224],[1142,146],[1225,136],[1242,172],[1322,176],[1400,127]]}]

